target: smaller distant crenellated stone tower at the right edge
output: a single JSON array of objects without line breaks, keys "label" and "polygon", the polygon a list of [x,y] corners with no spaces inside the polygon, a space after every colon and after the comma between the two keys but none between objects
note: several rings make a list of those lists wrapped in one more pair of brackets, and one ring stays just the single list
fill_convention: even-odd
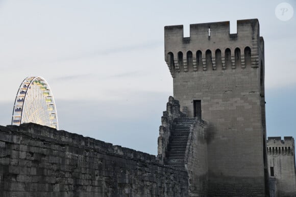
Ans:
[{"label": "smaller distant crenellated stone tower at the right edge", "polygon": [[268,172],[276,178],[278,196],[296,196],[295,147],[293,137],[268,137]]}]

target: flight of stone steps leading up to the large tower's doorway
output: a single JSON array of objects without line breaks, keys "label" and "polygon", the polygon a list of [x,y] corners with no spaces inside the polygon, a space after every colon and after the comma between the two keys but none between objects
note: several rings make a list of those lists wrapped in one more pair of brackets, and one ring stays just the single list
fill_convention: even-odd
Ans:
[{"label": "flight of stone steps leading up to the large tower's doorway", "polygon": [[174,120],[174,127],[169,137],[165,164],[184,169],[185,150],[190,126],[195,118],[179,118]]}]

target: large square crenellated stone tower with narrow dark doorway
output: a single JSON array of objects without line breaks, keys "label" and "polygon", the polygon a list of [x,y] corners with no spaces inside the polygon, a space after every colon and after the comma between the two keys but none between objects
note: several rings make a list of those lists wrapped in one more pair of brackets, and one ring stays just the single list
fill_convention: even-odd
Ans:
[{"label": "large square crenellated stone tower with narrow dark doorway", "polygon": [[264,41],[257,19],[164,27],[174,98],[207,122],[208,195],[268,195]]}]

